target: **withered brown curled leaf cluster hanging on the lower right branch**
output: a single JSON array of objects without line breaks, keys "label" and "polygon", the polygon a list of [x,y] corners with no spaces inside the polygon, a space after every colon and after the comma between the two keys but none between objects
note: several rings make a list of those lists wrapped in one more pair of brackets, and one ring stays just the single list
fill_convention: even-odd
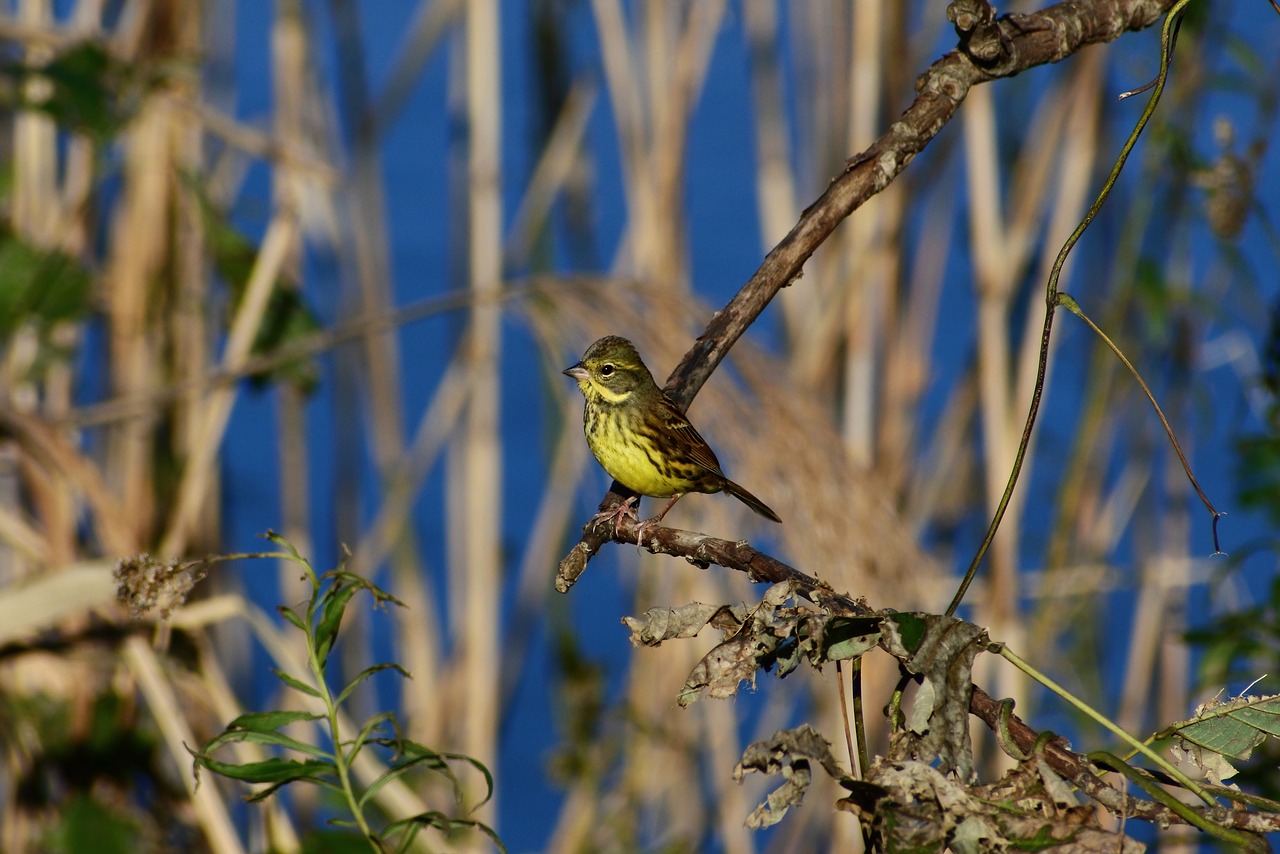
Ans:
[{"label": "withered brown curled leaf cluster hanging on the lower right branch", "polygon": [[[897,659],[902,681],[887,709],[892,725],[887,755],[870,763],[863,757],[865,772],[852,776],[809,725],[750,745],[735,769],[736,780],[751,772],[782,776],[782,784],[749,816],[750,827],[782,821],[804,800],[817,766],[846,790],[836,808],[859,816],[874,850],[937,845],[973,851],[1027,846],[1140,850],[1123,832],[1097,827],[1093,817],[1100,804],[1120,816],[1188,823],[1242,849],[1261,845],[1254,832],[1280,828],[1280,804],[1221,785],[1234,773],[1233,762],[1247,759],[1268,735],[1280,734],[1280,700],[1275,697],[1207,704],[1192,720],[1174,723],[1144,743],[1125,734],[1133,754],[1143,753],[1152,769],[1107,753],[1074,753],[1052,732],[1030,731],[1006,700],[996,714],[979,716],[1016,767],[1000,780],[980,782],[969,737],[970,714],[979,713],[974,697],[980,694],[973,686],[973,663],[988,652],[1027,670],[1025,662],[991,641],[980,626],[925,613],[835,616],[800,603],[790,583],[771,586],[750,606],[695,602],[653,608],[623,622],[636,645],[691,638],[708,626],[722,632],[722,640],[695,665],[681,688],[677,699],[682,705],[703,695],[732,697],[744,684],[754,686],[762,670],[781,677],[803,663],[820,668],[831,661],[856,662],[876,647]],[[1101,718],[1052,680],[1029,672]],[[1178,768],[1151,750],[1148,745],[1156,743],[1171,748]],[[1120,772],[1125,782],[1119,787],[1105,782],[1103,769]],[[1207,784],[1193,782],[1188,773]],[[1204,805],[1181,803],[1167,794],[1167,786],[1181,787]],[[1231,805],[1224,809],[1221,800]]]}]

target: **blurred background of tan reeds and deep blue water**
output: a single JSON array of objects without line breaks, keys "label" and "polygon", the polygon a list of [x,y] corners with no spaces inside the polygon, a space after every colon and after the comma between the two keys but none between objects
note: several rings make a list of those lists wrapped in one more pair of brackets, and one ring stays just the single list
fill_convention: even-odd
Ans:
[{"label": "blurred background of tan reeds and deep blue water", "polygon": [[[977,87],[691,407],[785,524],[723,495],[668,524],[876,608],[943,609],[1012,465],[1048,268],[1158,36]],[[216,565],[154,638],[114,606],[120,557],[262,551],[268,529],[320,571],[349,549],[403,600],[348,613],[339,671],[413,676],[371,680],[353,714],[396,709],[486,763],[476,816],[509,850],[856,850],[833,787],[758,834],[768,781],[731,776],[782,726],[841,740],[833,672],[682,709],[714,632],[632,650],[620,624],[760,590],[607,547],[554,593],[608,487],[559,370],[613,333],[660,383],[952,49],[946,4],[10,0],[0,44],[4,850],[349,848],[314,794],[244,807],[205,775],[193,795],[183,749],[296,705],[270,667],[297,568]],[[1230,513],[1228,554],[1130,375],[1060,312],[1032,456],[961,609],[1142,736],[1276,672],[1277,44],[1267,3],[1192,4],[1062,278]],[[1110,744],[987,658],[975,681],[1034,726]],[[868,657],[873,753],[896,672]],[[1272,796],[1274,754],[1245,772]],[[462,813],[484,786],[458,773]]]}]

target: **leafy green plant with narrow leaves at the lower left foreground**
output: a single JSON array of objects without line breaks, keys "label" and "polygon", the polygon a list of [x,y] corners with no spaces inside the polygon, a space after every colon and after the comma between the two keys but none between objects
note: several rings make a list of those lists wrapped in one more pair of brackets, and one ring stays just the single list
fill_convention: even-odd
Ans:
[{"label": "leafy green plant with narrow leaves at the lower left foreground", "polygon": [[[311,565],[287,540],[271,533],[268,536],[284,551],[285,558],[302,568],[303,577],[311,585],[311,595],[301,612],[285,606],[279,608],[280,615],[305,638],[308,672],[305,676],[283,671],[274,672],[291,689],[311,700],[319,700],[323,711],[275,709],[241,714],[228,723],[223,732],[210,739],[195,753],[197,773],[205,768],[232,780],[261,785],[261,789],[246,796],[250,802],[264,800],[282,786],[293,782],[320,786],[337,796],[351,816],[351,818],[330,819],[330,823],[358,831],[360,836],[375,851],[408,850],[424,828],[434,828],[445,835],[461,830],[477,830],[489,836],[500,850],[506,850],[497,834],[483,822],[448,816],[439,810],[392,821],[380,831],[372,828],[370,808],[374,798],[388,784],[406,778],[413,772],[428,772],[445,780],[454,799],[461,803],[462,784],[453,767],[463,764],[479,771],[484,777],[486,794],[476,807],[483,805],[493,795],[493,776],[484,764],[471,757],[442,753],[403,737],[393,712],[378,712],[370,716],[361,723],[360,731],[355,736],[343,732],[339,712],[352,693],[370,676],[383,671],[394,671],[408,677],[404,668],[394,662],[372,665],[361,670],[337,694],[332,691],[326,670],[329,654],[338,640],[343,615],[360,593],[371,595],[378,606],[402,603],[371,581],[346,571],[342,566],[324,575],[316,575]],[[284,727],[298,723],[319,723],[320,729],[325,731],[326,739],[323,739],[323,744],[317,745],[282,732]],[[220,748],[237,743],[266,745],[276,749],[280,755],[260,762],[241,763],[221,762],[214,758],[214,753]],[[360,789],[353,778],[352,766],[365,749],[376,750],[383,755],[388,769],[367,787]],[[338,844],[338,837],[330,837],[329,841]],[[326,844],[323,850],[349,849],[342,846],[334,849]]]}]

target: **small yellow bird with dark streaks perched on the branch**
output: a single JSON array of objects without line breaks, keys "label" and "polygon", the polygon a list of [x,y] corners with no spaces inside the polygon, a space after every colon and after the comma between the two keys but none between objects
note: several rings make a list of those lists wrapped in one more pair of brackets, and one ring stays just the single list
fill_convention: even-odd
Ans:
[{"label": "small yellow bird with dark streaks perched on the branch", "polygon": [[[586,398],[586,444],[609,476],[640,495],[671,499],[645,525],[658,524],[690,492],[727,492],[760,516],[782,521],[763,501],[724,476],[716,452],[658,388],[630,341],[605,335],[563,373],[577,380]],[[616,524],[637,501],[632,495],[602,516],[613,517]]]}]

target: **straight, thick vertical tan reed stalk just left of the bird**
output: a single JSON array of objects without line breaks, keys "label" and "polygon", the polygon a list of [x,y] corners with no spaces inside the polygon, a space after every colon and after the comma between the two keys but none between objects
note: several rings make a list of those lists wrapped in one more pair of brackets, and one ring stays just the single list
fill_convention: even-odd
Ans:
[{"label": "straight, thick vertical tan reed stalk just left of the bird", "polygon": [[[468,287],[480,298],[467,324],[462,362],[470,397],[460,437],[463,506],[463,565],[452,577],[463,590],[463,749],[494,767],[498,757],[498,676],[502,670],[498,626],[502,603],[499,543],[504,502],[499,401],[502,314],[484,297],[502,287],[502,40],[495,0],[472,0],[466,8],[467,117],[467,270]],[[497,814],[497,803],[481,808]]]}]

